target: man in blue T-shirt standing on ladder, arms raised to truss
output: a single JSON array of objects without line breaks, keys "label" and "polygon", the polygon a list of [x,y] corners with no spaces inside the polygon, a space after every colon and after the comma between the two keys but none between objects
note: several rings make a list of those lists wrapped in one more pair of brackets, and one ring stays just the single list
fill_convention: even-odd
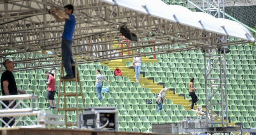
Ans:
[{"label": "man in blue T-shirt standing on ladder, arms raised to truss", "polygon": [[62,14],[62,12],[60,12],[57,9],[51,9],[50,14],[52,14],[57,21],[60,21],[60,22],[65,21],[64,31],[62,34],[62,41],[61,41],[61,51],[62,51],[62,64],[66,70],[67,75],[65,77],[62,77],[62,79],[72,79],[75,77],[75,72],[74,72],[75,70],[74,70],[74,67],[71,66],[71,64],[74,63],[72,58],[71,46],[73,42],[73,33],[76,26],[76,19],[74,15],[72,15],[74,11],[73,5],[69,4],[69,5],[66,5],[64,8],[65,8],[64,10],[65,14]]}]

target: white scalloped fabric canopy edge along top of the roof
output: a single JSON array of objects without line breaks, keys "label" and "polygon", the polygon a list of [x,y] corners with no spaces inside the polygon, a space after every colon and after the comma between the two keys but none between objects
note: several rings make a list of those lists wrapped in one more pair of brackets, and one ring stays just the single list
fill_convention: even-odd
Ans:
[{"label": "white scalloped fabric canopy edge along top of the roof", "polygon": [[166,19],[173,23],[180,23],[196,29],[255,42],[251,32],[242,24],[227,19],[216,19],[215,17],[202,12],[192,12],[179,5],[166,5],[161,0],[102,1],[118,7],[128,8],[142,14]]}]

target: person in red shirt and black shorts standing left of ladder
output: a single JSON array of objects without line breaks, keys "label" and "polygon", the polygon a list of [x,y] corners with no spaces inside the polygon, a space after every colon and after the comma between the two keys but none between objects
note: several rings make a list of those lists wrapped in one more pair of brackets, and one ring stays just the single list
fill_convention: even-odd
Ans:
[{"label": "person in red shirt and black shorts standing left of ladder", "polygon": [[56,81],[54,76],[52,76],[50,73],[48,73],[48,81],[46,82],[46,84],[48,84],[48,88],[47,88],[47,100],[50,103],[50,107],[48,107],[49,109],[55,109],[55,100],[54,100],[54,95],[56,93]]}]

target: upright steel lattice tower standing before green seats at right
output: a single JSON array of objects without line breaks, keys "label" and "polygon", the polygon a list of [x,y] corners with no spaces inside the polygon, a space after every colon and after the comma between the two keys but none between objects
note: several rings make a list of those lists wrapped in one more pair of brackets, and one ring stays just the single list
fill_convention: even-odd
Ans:
[{"label": "upright steel lattice tower standing before green seats at right", "polygon": [[[207,125],[221,124],[222,127],[227,127],[227,62],[225,50],[223,54],[221,54],[221,49],[204,51],[204,62]],[[220,100],[216,103],[213,99]],[[221,110],[216,112],[213,109],[216,107],[221,108]]]}]

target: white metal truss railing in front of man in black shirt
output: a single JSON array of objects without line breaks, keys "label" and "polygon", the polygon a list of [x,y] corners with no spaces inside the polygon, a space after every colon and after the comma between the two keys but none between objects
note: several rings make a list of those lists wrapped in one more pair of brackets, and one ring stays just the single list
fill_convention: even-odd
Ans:
[{"label": "white metal truss railing in front of man in black shirt", "polygon": [[[4,103],[10,101],[9,104]],[[24,100],[30,100],[28,105]],[[16,104],[15,104],[16,102]],[[0,103],[2,108],[0,109],[0,121],[2,121],[3,128],[19,127],[19,126],[37,126],[37,120],[31,120],[29,116],[38,115],[38,96],[37,95],[8,95],[0,96]],[[3,107],[4,106],[4,107]],[[21,108],[22,106],[22,108]],[[9,120],[3,120],[3,118],[9,117]],[[14,125],[9,125],[14,122]],[[20,123],[22,122],[22,124]],[[24,124],[23,124],[24,123]]]}]

